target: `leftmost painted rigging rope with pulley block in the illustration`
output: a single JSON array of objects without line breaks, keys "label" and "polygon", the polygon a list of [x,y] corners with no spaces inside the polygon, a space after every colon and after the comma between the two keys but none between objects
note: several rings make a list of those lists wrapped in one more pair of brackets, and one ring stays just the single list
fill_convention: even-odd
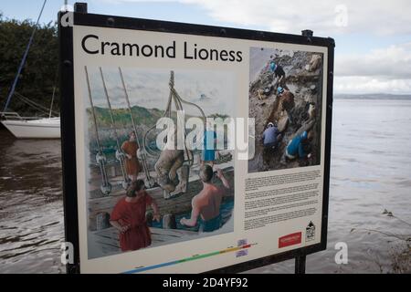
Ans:
[{"label": "leftmost painted rigging rope with pulley block in the illustration", "polygon": [[96,154],[96,162],[99,164],[100,167],[100,173],[101,173],[101,185],[100,185],[100,191],[104,195],[108,195],[111,193],[111,183],[109,182],[109,176],[106,171],[106,156],[104,153],[101,151],[101,143],[100,143],[100,136],[99,136],[99,129],[97,126],[97,119],[96,119],[96,112],[94,109],[94,104],[93,104],[93,99],[91,97],[91,89],[90,89],[90,79],[89,79],[89,72],[87,70],[87,67],[84,67],[84,70],[86,71],[86,81],[87,81],[87,88],[89,90],[89,100],[90,100],[90,106],[91,106],[91,116],[93,117],[94,121],[94,130],[96,134],[96,144],[97,144],[97,154]]}]

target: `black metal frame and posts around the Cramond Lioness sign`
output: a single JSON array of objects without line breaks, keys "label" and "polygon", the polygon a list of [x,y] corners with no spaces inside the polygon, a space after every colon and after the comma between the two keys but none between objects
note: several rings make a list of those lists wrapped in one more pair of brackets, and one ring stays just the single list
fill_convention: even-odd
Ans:
[{"label": "black metal frame and posts around the Cramond Lioness sign", "polygon": [[[61,19],[67,13],[58,14],[59,38],[59,68],[60,68],[60,106],[61,106],[61,148],[63,166],[63,193],[65,214],[66,241],[74,246],[74,263],[68,264],[68,273],[79,273],[79,218],[78,196],[76,178],[76,147],[75,147],[75,115],[74,115],[74,64],[73,64],[73,27],[62,25]],[[304,34],[303,36],[278,34],[264,31],[228,28],[220,26],[200,26],[175,22],[128,18],[120,16],[103,16],[87,13],[87,4],[75,5],[72,13],[72,25],[99,26],[120,29],[136,29],[174,34],[187,34],[196,36],[220,36],[247,40],[279,42],[296,45],[327,47],[327,97],[326,97],[326,126],[325,126],[325,160],[324,181],[322,193],[322,220],[321,243],[301,247],[276,255],[269,255],[234,266],[225,266],[209,273],[237,273],[260,266],[267,266],[280,261],[296,258],[296,273],[303,273],[305,268],[305,255],[326,249],[328,204],[330,186],[330,156],[332,141],[332,81],[334,62],[334,40],[330,37],[317,37]]]}]

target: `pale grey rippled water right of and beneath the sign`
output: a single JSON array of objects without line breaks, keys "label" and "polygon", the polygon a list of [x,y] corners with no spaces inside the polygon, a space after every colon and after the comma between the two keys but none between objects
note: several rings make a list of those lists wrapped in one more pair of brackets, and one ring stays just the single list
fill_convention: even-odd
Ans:
[{"label": "pale grey rippled water right of and beneath the sign", "polygon": [[[328,248],[307,256],[308,273],[390,273],[398,241],[354,231],[410,235],[411,100],[334,99]],[[348,245],[348,265],[336,265],[337,242]],[[292,273],[294,262],[258,268]]]}]

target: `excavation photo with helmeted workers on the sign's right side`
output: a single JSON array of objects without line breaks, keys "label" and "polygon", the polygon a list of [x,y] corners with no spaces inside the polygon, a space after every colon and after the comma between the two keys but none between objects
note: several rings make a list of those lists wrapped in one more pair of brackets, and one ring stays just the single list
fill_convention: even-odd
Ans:
[{"label": "excavation photo with helmeted workers on the sign's right side", "polygon": [[248,115],[255,155],[248,172],[321,162],[323,54],[251,47]]}]

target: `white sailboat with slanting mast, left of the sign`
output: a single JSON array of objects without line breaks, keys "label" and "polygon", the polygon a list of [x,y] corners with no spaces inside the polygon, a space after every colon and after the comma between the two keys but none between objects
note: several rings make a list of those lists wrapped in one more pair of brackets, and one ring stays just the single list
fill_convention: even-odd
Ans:
[{"label": "white sailboat with slanting mast, left of the sign", "polygon": [[[5,108],[2,112],[0,112],[1,123],[17,139],[25,139],[25,138],[58,139],[60,138],[60,118],[52,117],[52,110],[51,110],[53,107],[55,90],[53,90],[51,108],[49,110],[49,115],[47,118],[21,117],[18,113],[14,111],[7,111],[10,100],[16,93],[17,80],[21,74],[22,69],[25,66],[26,57],[27,57],[29,48],[33,42],[33,38],[37,30],[38,22],[40,20],[40,16],[43,14],[44,6],[46,5],[46,3],[47,3],[47,0],[44,1],[43,6],[41,7],[40,14],[37,18],[36,26],[34,27],[33,32],[30,36],[30,39],[26,47],[25,54],[17,70],[16,78],[13,82],[12,88],[10,89],[7,100],[5,102]],[[22,98],[26,99],[24,97]],[[41,106],[36,104],[34,101],[26,100],[26,103],[28,103],[29,105],[31,104],[34,107],[41,108]]]}]

